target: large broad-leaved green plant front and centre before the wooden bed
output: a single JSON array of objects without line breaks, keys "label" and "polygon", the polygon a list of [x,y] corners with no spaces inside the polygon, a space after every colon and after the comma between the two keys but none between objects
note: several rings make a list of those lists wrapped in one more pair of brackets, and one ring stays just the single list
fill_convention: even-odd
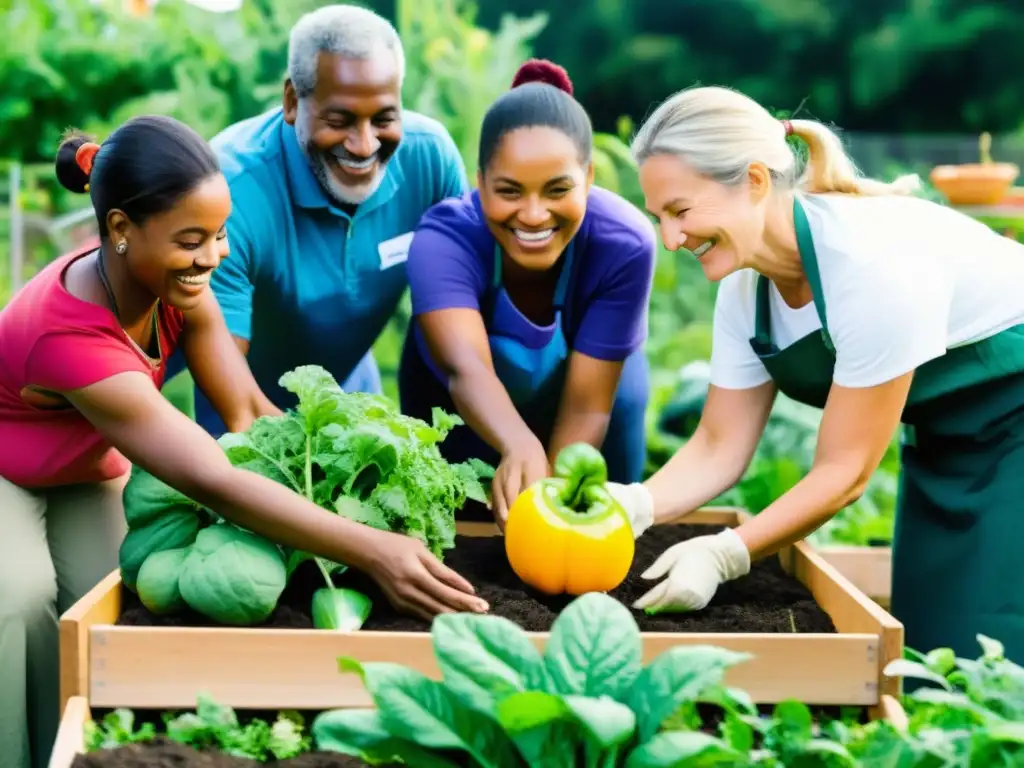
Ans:
[{"label": "large broad-leaved green plant front and centre before the wooden bed", "polygon": [[[663,730],[684,703],[721,697],[725,672],[749,656],[710,646],[678,646],[646,667],[628,608],[602,593],[573,600],[542,653],[499,616],[442,614],[431,630],[442,680],[396,664],[345,657],[376,709],[337,710],[313,722],[321,750],[367,760],[480,767],[630,768],[708,755],[739,758],[699,732]],[[461,758],[456,756],[461,755]],[[574,756],[574,757],[570,757]]]}]

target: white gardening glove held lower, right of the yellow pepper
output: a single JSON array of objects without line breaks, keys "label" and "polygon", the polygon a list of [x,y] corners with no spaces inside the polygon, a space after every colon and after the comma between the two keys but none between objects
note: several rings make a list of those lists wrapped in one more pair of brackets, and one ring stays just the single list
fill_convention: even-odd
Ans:
[{"label": "white gardening glove held lower, right of the yellow pepper", "polygon": [[751,553],[732,528],[675,544],[640,574],[641,579],[669,578],[633,603],[648,613],[701,610],[723,582],[751,570]]}]

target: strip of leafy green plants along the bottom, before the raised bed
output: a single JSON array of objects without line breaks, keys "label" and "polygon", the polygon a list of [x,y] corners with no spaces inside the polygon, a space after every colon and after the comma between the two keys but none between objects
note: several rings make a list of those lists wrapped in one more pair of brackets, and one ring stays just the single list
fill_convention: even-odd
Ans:
[{"label": "strip of leafy green plants along the bottom, before the raised bed", "polygon": [[[444,615],[433,626],[442,679],[396,664],[341,660],[362,677],[376,709],[329,712],[306,737],[282,713],[240,726],[205,697],[195,714],[165,716],[167,736],[198,749],[279,760],[315,749],[419,768],[953,768],[1024,764],[1024,670],[994,640],[982,656],[948,648],[893,662],[887,673],[932,684],[904,697],[891,721],[815,722],[800,701],[760,715],[721,684],[743,654],[678,646],[643,667],[636,625],[600,594],[559,618],[542,653],[518,627],[492,616]],[[916,659],[916,660],[912,660]],[[937,686],[937,687],[935,687]],[[724,714],[717,734],[701,711]],[[669,713],[668,716],[666,713]],[[152,741],[129,710],[86,724],[92,752]]]}]

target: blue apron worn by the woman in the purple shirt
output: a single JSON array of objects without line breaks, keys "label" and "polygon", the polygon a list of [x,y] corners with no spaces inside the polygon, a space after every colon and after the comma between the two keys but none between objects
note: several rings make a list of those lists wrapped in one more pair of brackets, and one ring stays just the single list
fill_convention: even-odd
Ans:
[{"label": "blue apron worn by the woman in the purple shirt", "polygon": [[[554,295],[554,321],[538,326],[512,303],[502,284],[502,251],[495,248],[494,274],[480,313],[490,347],[495,373],[530,430],[548,444],[561,402],[570,353],[565,332],[565,306],[572,279],[575,249],[570,241]],[[398,371],[402,413],[430,421],[434,407],[456,413],[444,376],[421,351],[422,337],[410,324]],[[644,415],[649,368],[644,350],[627,358],[620,377],[608,430],[601,453],[608,477],[616,482],[641,479],[646,460]],[[476,458],[497,466],[501,457],[469,427],[457,427],[441,445],[452,462]]]}]

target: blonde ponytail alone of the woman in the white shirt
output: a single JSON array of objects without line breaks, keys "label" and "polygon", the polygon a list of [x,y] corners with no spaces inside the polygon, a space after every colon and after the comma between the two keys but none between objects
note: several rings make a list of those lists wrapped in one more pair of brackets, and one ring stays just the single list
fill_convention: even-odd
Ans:
[{"label": "blonde ponytail alone of the woman in the white shirt", "polygon": [[790,120],[793,135],[807,144],[807,168],[797,186],[809,193],[885,196],[913,195],[921,188],[916,174],[885,182],[861,176],[843,142],[827,126],[815,120]]}]

